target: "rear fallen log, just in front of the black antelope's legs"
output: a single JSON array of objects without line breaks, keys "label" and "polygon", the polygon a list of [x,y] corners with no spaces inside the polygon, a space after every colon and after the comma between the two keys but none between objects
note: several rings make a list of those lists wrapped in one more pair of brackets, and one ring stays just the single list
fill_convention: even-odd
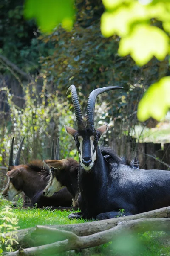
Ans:
[{"label": "rear fallen log, just in front of the black antelope's legs", "polygon": [[[107,219],[102,221],[93,221],[93,222],[86,222],[81,224],[53,225],[53,226],[46,226],[46,227],[52,227],[59,230],[71,231],[77,236],[88,236],[97,232],[109,230],[115,227],[118,224],[118,222],[121,222],[121,221],[136,220],[141,218],[168,218],[168,217],[170,218],[170,207],[164,207],[164,208],[156,209],[150,212],[144,212],[136,215],[112,218],[112,219]],[[15,244],[14,246],[21,246],[23,248],[27,248],[31,246],[39,246],[42,244],[56,242],[56,239],[53,236],[50,238],[50,241],[49,241],[49,237],[45,235],[45,233],[43,232],[37,235],[35,232],[36,230],[37,230],[36,227],[18,230],[17,241],[19,245]]]}]

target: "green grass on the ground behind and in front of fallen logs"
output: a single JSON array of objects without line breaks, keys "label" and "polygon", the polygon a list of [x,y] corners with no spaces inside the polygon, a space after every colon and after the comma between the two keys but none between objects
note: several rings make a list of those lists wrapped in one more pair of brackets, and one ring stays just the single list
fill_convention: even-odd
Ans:
[{"label": "green grass on the ground behind and in front of fallen logs", "polygon": [[[0,213],[8,201],[2,200]],[[71,211],[51,211],[46,209],[13,209],[12,212],[19,219],[20,229],[35,227],[36,225],[77,224],[86,222],[68,220]],[[2,221],[0,220],[0,224]],[[170,245],[164,245],[165,233],[145,232],[140,234],[121,234],[113,242],[102,246],[70,251],[59,254],[60,256],[170,256]]]}]

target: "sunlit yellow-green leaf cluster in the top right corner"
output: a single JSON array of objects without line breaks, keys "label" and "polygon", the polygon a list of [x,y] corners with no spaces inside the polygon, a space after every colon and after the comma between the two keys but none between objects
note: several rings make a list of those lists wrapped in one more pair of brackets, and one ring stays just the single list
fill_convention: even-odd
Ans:
[{"label": "sunlit yellow-green leaf cluster in the top right corner", "polygon": [[[144,65],[153,56],[163,60],[169,52],[170,2],[144,0],[103,0],[106,11],[101,18],[105,36],[121,37],[119,54],[128,54],[138,65]],[[155,21],[162,23],[155,26]]]}]

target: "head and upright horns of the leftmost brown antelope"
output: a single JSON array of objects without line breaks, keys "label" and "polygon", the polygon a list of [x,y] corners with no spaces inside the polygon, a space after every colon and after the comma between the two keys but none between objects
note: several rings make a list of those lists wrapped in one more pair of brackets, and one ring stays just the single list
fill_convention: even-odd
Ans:
[{"label": "head and upright horns of the leftmost brown antelope", "polygon": [[5,189],[3,190],[3,198],[6,198],[10,201],[12,201],[16,195],[20,194],[23,191],[23,189],[22,189],[23,180],[20,177],[21,169],[23,166],[19,165],[23,141],[24,141],[24,138],[20,143],[20,146],[17,151],[17,156],[16,156],[15,160],[13,161],[14,137],[12,138],[10,156],[9,156],[9,164],[8,164],[8,172],[7,172],[8,183],[5,187]]}]

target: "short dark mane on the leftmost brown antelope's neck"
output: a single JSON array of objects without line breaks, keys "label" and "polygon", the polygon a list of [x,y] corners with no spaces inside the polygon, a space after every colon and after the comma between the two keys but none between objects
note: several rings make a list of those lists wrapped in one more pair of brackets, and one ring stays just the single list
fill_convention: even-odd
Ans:
[{"label": "short dark mane on the leftmost brown antelope's neck", "polygon": [[34,172],[39,172],[42,177],[47,177],[50,175],[49,167],[41,160],[34,160],[28,163],[28,168],[32,169]]}]

